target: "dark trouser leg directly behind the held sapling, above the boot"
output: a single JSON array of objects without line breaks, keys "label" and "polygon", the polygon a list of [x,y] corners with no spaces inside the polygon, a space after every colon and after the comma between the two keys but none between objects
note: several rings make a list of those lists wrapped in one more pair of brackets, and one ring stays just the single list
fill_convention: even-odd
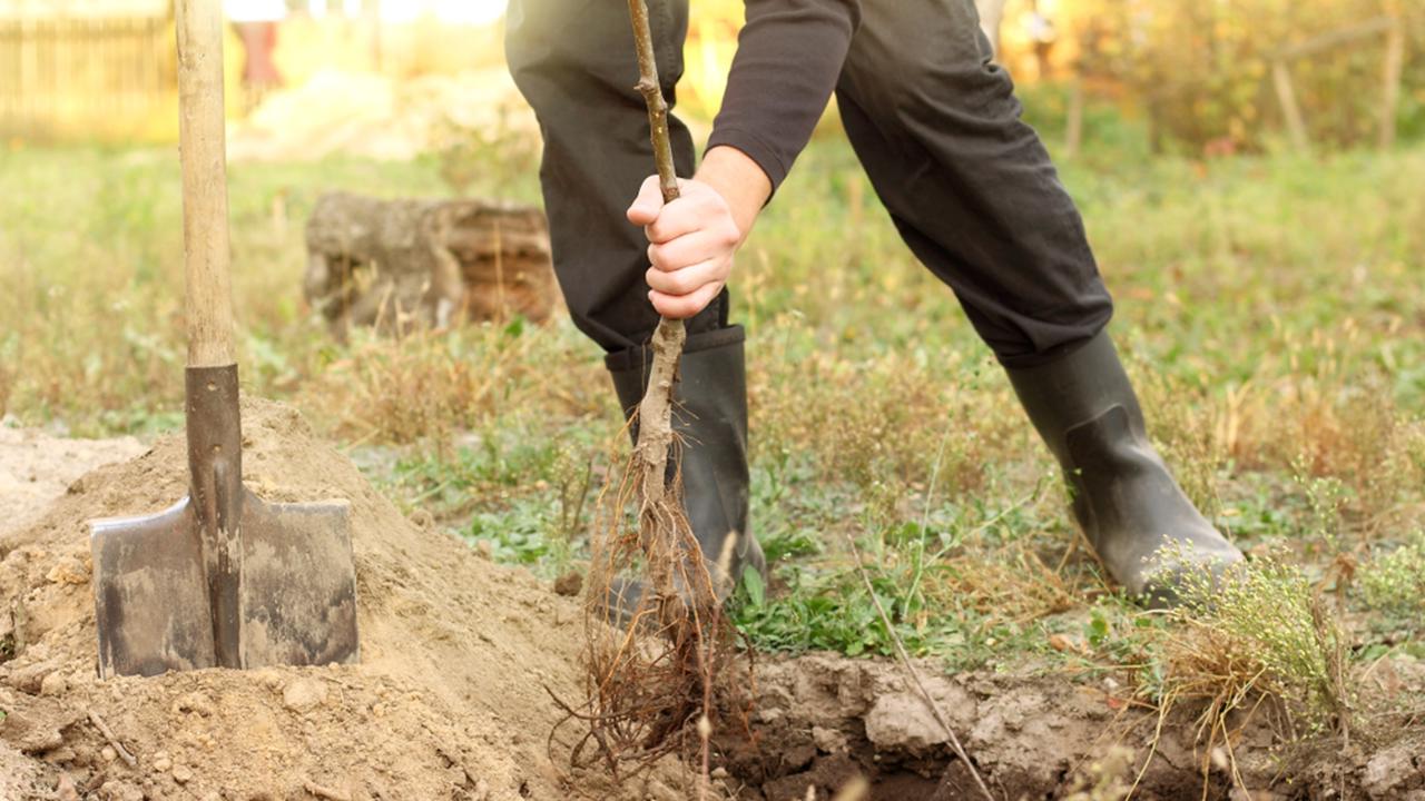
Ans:
[{"label": "dark trouser leg directly behind the held sapling, above the boot", "polygon": [[[687,0],[651,0],[658,78],[668,104],[683,74]],[[628,9],[613,0],[512,0],[506,57],[534,108],[544,153],[540,185],[554,274],[574,325],[614,352],[647,342],[658,324],[644,272],[648,241],[624,211],[654,172],[648,113]],[[680,175],[694,168],[693,138],[668,117]],[[727,295],[688,321],[698,334],[727,325]]]}]

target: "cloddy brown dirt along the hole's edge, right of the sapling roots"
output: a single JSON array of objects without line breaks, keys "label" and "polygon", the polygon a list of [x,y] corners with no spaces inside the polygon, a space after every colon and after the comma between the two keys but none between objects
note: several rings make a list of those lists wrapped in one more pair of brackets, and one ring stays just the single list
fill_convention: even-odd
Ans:
[{"label": "cloddy brown dirt along the hole's edge, right of the sapling roots", "polygon": [[[922,674],[998,797],[1057,798],[1087,788],[1102,775],[1104,755],[1120,753],[1113,777],[1120,788],[1147,763],[1134,798],[1247,798],[1238,790],[1244,785],[1251,798],[1425,801],[1419,727],[1392,731],[1389,743],[1358,735],[1345,748],[1340,741],[1285,748],[1268,715],[1258,714],[1234,721],[1228,755],[1196,745],[1193,710],[1174,713],[1156,734],[1157,714],[1134,708],[1112,684],[1027,674],[950,677],[931,663]],[[858,774],[871,780],[872,800],[980,798],[896,663],[826,654],[764,660],[757,684],[752,740],[737,733],[717,738],[730,785],[742,787],[740,800],[832,798]]]}]

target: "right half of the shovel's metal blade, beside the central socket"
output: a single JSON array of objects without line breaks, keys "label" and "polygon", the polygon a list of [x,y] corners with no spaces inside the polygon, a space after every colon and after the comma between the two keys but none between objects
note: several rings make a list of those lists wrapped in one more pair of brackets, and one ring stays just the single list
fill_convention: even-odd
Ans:
[{"label": "right half of the shovel's metal blade, beside the central socket", "polygon": [[353,663],[351,505],[266,503],[244,489],[242,666]]}]

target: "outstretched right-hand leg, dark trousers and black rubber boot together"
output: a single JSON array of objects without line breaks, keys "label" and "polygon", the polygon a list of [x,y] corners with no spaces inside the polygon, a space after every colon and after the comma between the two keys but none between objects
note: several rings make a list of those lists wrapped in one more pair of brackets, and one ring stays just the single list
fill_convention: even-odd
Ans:
[{"label": "outstretched right-hand leg, dark trousers and black rubber boot together", "polygon": [[970,0],[868,3],[836,97],[906,244],[950,285],[1057,458],[1109,573],[1154,604],[1241,559],[1178,487],[1103,326],[1083,222]]}]

